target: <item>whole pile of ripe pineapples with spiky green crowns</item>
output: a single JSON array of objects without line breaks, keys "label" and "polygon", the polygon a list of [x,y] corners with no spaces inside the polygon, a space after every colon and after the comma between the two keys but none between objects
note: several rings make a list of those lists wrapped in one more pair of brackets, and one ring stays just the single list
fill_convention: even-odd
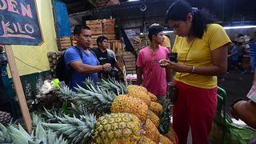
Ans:
[{"label": "whole pile of ripe pineapples with spiky green crowns", "polygon": [[53,130],[60,143],[177,143],[171,128],[166,136],[159,133],[164,110],[146,88],[114,79],[85,83],[86,88],[78,86],[77,92],[60,89],[58,95],[70,103],[69,109],[46,110],[42,118],[33,118],[34,126]]}]

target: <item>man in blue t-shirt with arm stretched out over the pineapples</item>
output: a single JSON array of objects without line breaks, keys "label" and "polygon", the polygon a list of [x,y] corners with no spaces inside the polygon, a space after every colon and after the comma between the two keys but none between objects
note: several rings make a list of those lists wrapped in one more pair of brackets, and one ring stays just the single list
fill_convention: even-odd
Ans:
[{"label": "man in blue t-shirt with arm stretched out over the pineapples", "polygon": [[96,55],[90,50],[90,38],[88,26],[75,26],[77,46],[71,46],[64,55],[66,66],[72,70],[69,86],[74,91],[74,87],[84,86],[86,78],[98,82],[98,72],[111,70],[110,63],[99,65]]}]

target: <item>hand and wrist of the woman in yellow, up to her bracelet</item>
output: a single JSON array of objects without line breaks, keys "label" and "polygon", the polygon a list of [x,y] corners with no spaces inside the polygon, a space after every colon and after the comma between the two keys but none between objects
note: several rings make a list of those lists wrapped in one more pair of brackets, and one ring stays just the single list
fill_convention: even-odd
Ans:
[{"label": "hand and wrist of the woman in yellow, up to her bracelet", "polygon": [[192,70],[192,66],[182,65],[177,62],[170,62],[169,60],[166,60],[166,59],[161,59],[159,63],[161,67],[169,68],[180,73],[190,73]]}]

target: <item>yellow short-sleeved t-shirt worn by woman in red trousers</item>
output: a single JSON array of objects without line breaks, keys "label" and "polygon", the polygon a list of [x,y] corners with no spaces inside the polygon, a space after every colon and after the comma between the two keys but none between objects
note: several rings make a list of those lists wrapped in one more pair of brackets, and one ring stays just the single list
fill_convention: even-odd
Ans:
[{"label": "yellow short-sleeved t-shirt worn by woman in red trousers", "polygon": [[[185,37],[176,37],[173,52],[178,53],[178,62],[188,66],[212,66],[211,50],[230,42],[226,31],[218,24],[209,24],[202,39],[188,43]],[[187,55],[187,56],[186,56]],[[212,89],[217,86],[216,76],[176,73],[175,80],[190,86]]]}]

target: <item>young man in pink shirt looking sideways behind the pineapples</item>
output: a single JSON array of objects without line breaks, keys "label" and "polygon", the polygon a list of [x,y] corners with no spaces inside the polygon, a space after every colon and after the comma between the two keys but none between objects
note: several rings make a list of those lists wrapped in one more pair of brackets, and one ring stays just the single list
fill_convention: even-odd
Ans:
[{"label": "young man in pink shirt looking sideways behind the pineapples", "polygon": [[[137,84],[143,84],[150,93],[158,97],[161,104],[166,102],[167,82],[171,80],[170,69],[166,70],[159,65],[160,59],[168,59],[169,50],[161,46],[164,41],[163,27],[152,25],[148,29],[150,46],[146,46],[138,53]],[[142,78],[143,76],[143,78]]]}]

